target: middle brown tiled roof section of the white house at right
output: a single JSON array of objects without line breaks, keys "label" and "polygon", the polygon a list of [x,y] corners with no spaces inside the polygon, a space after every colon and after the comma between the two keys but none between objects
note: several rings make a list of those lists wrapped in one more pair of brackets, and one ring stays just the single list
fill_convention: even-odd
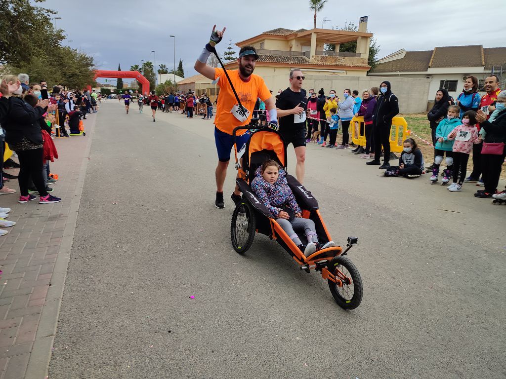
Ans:
[{"label": "middle brown tiled roof section of the white house at right", "polygon": [[430,67],[483,66],[483,46],[444,46],[435,48]]}]

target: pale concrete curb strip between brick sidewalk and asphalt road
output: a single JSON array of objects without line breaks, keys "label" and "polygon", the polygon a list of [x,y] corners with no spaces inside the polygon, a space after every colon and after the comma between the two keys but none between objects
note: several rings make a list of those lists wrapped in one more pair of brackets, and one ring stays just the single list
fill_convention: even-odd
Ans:
[{"label": "pale concrete curb strip between brick sidewalk and asphalt road", "polygon": [[[60,307],[63,298],[63,290],[65,287],[65,278],[67,276],[67,268],[70,261],[70,250],[74,240],[74,230],[77,222],[77,214],[81,203],[82,188],[85,183],[86,170],[88,168],[88,160],[90,156],[93,135],[97,118],[89,125],[89,133],[87,133],[88,144],[85,148],[85,156],[79,170],[79,176],[75,183],[74,196],[67,217],[67,223],[63,230],[62,242],[58,250],[51,285],[46,297],[46,302],[40,315],[40,321],[35,335],[30,360],[26,368],[25,379],[44,379],[48,376],[49,362],[51,360],[53,342],[56,335]],[[75,201],[78,199],[78,201]]]}]

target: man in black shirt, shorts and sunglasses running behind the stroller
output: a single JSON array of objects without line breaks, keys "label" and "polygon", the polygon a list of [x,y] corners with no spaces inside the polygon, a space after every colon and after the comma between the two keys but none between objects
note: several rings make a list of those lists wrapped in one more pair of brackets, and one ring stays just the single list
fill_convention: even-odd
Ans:
[{"label": "man in black shirt, shorts and sunglasses running behind the stroller", "polygon": [[290,86],[279,94],[276,108],[279,117],[279,132],[286,145],[292,144],[297,157],[295,173],[304,181],[306,161],[306,90],[302,89],[304,76],[301,69],[290,71]]}]

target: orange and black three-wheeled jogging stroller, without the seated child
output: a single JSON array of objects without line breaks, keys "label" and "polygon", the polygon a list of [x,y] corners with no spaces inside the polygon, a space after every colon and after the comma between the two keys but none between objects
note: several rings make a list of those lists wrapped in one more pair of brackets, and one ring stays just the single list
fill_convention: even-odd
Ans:
[{"label": "orange and black three-wheeled jogging stroller, without the seated child", "polygon": [[[320,271],[323,279],[327,279],[330,292],[336,303],[344,309],[354,309],[362,301],[362,279],[353,262],[346,256],[348,251],[357,244],[358,238],[348,237],[345,250],[333,246],[317,250],[309,257],[293,243],[288,234],[276,222],[269,209],[262,204],[249,186],[255,177],[255,170],[267,159],[278,162],[286,170],[286,144],[279,132],[271,128],[259,128],[258,119],[252,119],[246,126],[236,127],[233,131],[236,169],[239,177],[236,183],[242,192],[242,200],[237,203],[231,222],[231,239],[234,250],[245,253],[255,238],[262,233],[278,242],[288,254],[300,265],[301,270]],[[236,144],[237,130],[248,129],[251,137],[238,149]],[[320,242],[331,241],[330,233],[318,209],[318,202],[295,177],[286,173],[288,185],[297,203],[303,210],[302,217],[314,221]],[[304,235],[299,235],[307,243]]]}]

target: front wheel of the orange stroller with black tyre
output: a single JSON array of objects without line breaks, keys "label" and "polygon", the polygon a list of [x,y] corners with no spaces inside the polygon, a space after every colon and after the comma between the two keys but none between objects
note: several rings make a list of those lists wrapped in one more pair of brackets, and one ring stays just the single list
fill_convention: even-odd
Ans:
[{"label": "front wheel of the orange stroller with black tyre", "polygon": [[328,262],[327,268],[336,279],[343,282],[343,287],[339,287],[328,280],[328,287],[335,302],[344,309],[357,308],[362,301],[362,278],[357,267],[348,257],[337,256]]}]

